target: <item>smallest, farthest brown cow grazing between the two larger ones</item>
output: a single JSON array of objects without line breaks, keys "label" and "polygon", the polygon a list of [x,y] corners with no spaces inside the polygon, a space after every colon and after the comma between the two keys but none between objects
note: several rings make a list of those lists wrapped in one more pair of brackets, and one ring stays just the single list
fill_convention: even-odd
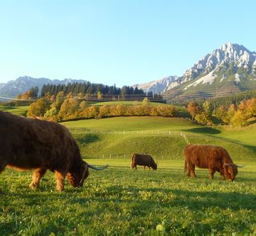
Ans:
[{"label": "smallest, farthest brown cow grazing between the two larger ones", "polygon": [[137,169],[137,165],[157,169],[157,164],[149,154],[132,154],[131,169]]}]

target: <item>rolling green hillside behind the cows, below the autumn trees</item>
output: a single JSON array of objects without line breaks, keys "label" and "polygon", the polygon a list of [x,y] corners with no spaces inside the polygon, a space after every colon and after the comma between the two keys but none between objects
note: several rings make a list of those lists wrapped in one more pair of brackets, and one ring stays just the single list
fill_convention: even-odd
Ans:
[{"label": "rolling green hillside behind the cows, below the autumn trees", "polygon": [[156,159],[182,160],[186,146],[182,132],[191,143],[225,147],[239,162],[256,161],[254,125],[238,131],[208,128],[181,118],[160,117],[120,117],[62,124],[73,133],[86,158],[129,159],[132,153],[142,152]]}]

